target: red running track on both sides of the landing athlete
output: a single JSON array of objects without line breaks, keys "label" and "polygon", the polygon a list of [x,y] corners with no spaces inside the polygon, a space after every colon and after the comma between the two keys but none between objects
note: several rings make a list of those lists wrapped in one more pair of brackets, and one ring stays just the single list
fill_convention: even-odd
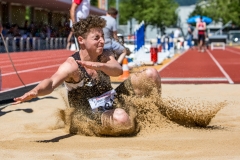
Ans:
[{"label": "red running track on both sides of the landing athlete", "polygon": [[[67,50],[10,53],[24,84],[16,75],[8,54],[0,54],[2,91],[31,85],[50,77],[67,57]],[[163,83],[240,83],[240,49],[188,50],[160,71]]]}]

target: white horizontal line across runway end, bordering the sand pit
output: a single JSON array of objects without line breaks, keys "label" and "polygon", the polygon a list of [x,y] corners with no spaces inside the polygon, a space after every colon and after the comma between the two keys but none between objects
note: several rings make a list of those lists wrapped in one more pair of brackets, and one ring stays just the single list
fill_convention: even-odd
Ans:
[{"label": "white horizontal line across runway end, bordering the sand pit", "polygon": [[212,77],[212,78],[161,78],[162,82],[168,82],[168,81],[196,81],[196,82],[203,82],[203,81],[214,81],[214,82],[222,82],[226,81],[228,82],[227,78],[222,78],[222,77]]}]

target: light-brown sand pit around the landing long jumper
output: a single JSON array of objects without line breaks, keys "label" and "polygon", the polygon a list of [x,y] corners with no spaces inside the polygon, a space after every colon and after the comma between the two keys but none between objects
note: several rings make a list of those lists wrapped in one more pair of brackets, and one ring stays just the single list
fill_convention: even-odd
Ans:
[{"label": "light-brown sand pit around the landing long jumper", "polygon": [[140,132],[132,137],[69,134],[58,114],[67,107],[64,96],[58,88],[0,106],[1,159],[240,159],[240,85],[163,84],[165,105],[143,99]]}]

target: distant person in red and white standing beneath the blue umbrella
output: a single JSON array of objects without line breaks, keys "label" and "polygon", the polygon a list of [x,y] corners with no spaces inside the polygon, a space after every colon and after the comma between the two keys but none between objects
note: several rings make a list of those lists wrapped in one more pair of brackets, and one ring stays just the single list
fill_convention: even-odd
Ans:
[{"label": "distant person in red and white standing beneath the blue umbrella", "polygon": [[204,52],[206,23],[203,22],[202,16],[196,23],[196,28],[198,30],[198,52]]}]

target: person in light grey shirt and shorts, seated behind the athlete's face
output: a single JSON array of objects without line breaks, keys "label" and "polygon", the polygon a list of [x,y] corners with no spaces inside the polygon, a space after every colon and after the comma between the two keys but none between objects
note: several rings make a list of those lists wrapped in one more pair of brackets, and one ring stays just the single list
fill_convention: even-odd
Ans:
[{"label": "person in light grey shirt and shorts, seated behind the athlete's face", "polygon": [[122,63],[124,57],[127,55],[127,50],[123,45],[118,42],[117,36],[117,22],[116,17],[118,10],[115,8],[109,8],[107,14],[102,16],[107,22],[106,27],[103,28],[105,45],[104,49],[112,49],[116,54],[118,63]]}]

